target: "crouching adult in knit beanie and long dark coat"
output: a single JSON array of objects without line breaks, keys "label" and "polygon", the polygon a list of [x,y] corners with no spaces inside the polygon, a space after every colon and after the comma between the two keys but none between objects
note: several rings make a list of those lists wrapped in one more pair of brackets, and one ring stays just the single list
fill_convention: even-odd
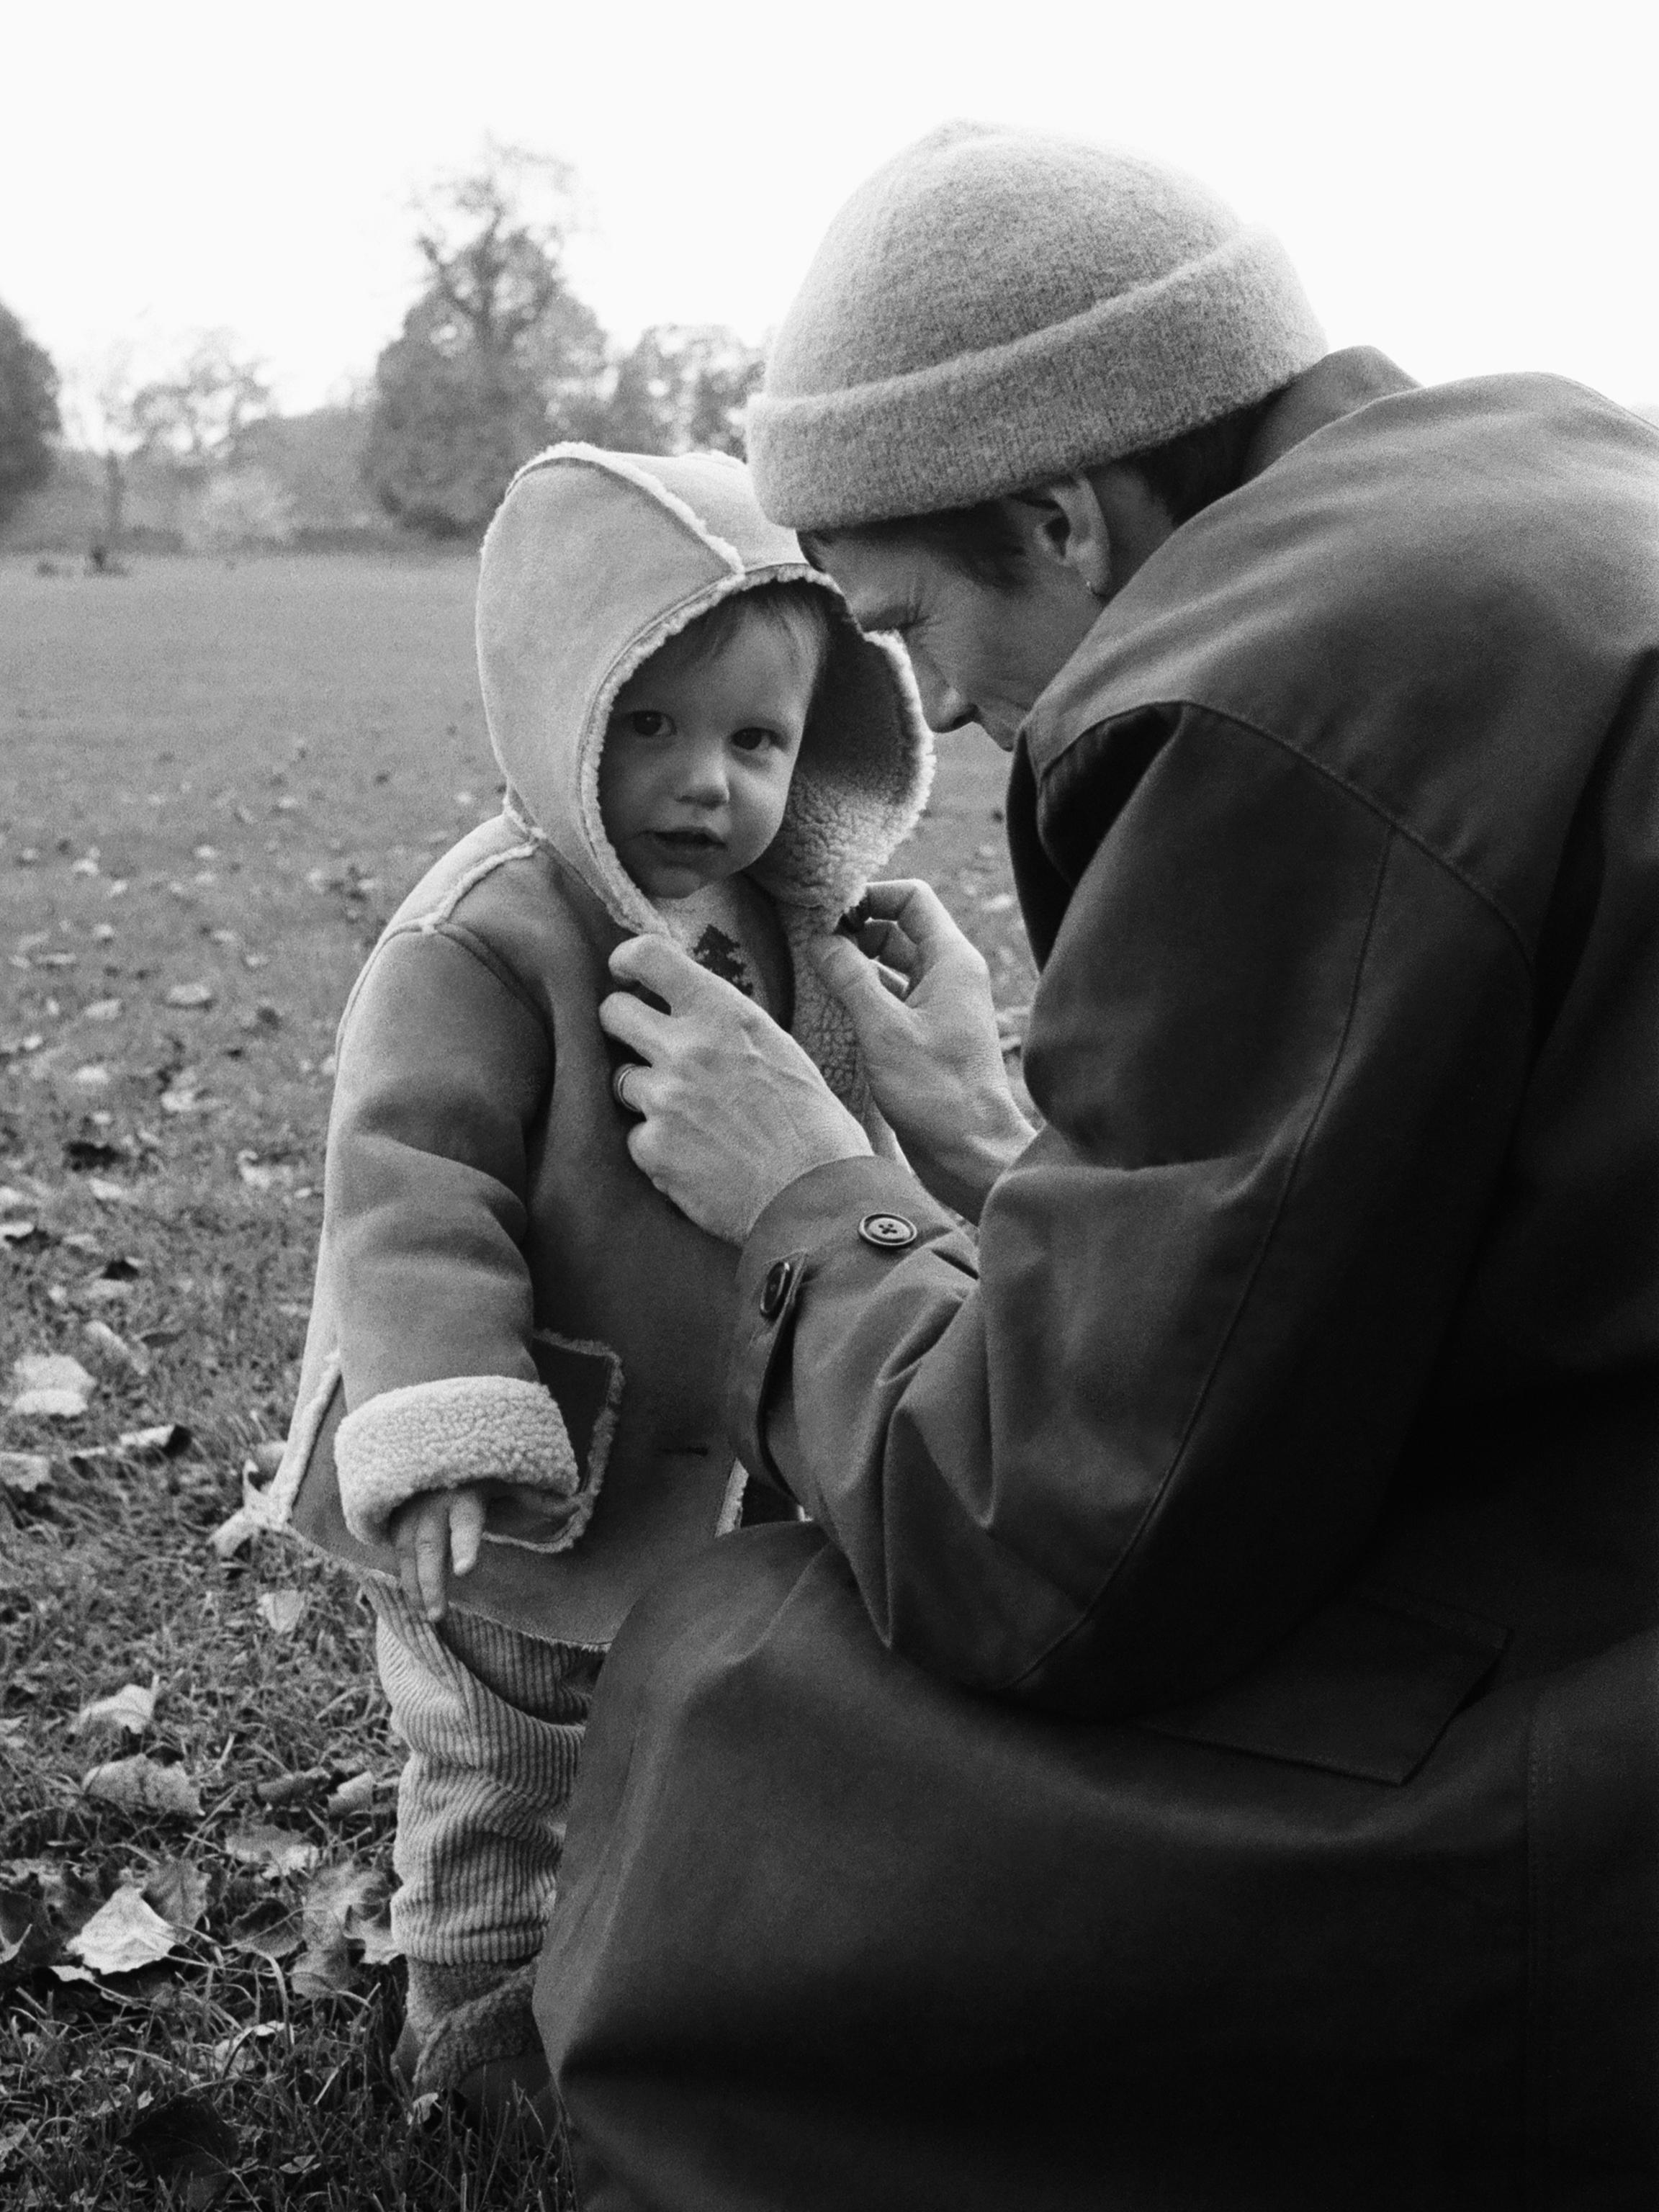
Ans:
[{"label": "crouching adult in knit beanie and long dark coat", "polygon": [[810,1520],[608,1661],[584,2205],[1659,2201],[1659,434],[1325,354],[1208,192],[953,126],[752,453],[1011,750],[1042,1119],[922,885],[898,993],[821,953],[907,1166],[613,956]]}]

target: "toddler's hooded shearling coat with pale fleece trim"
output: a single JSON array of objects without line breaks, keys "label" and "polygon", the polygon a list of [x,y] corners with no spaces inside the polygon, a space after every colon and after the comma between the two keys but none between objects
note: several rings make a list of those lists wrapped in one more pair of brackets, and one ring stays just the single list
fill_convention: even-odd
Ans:
[{"label": "toddler's hooded shearling coat with pale fleece trim", "polygon": [[511,1484],[453,1601],[544,1639],[606,1641],[730,1517],[737,1254],[639,1175],[611,1095],[606,958],[672,914],[604,834],[599,754],[668,637],[785,580],[825,591],[834,635],[750,874],[792,953],[794,1035],[880,1141],[805,947],[918,818],[929,737],[902,655],[858,635],[726,456],[566,445],[520,471],[478,586],[507,803],[416,885],[341,1022],[299,1411],[263,1513],[392,1575],[405,1500]]}]

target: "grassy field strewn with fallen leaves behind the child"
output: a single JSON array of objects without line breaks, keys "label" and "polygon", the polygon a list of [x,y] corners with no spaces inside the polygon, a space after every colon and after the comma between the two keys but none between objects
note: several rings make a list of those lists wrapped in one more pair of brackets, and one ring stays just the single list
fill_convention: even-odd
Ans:
[{"label": "grassy field strewn with fallen leaves behind the child", "polygon": [[[0,2201],[553,2203],[387,2070],[398,1750],[352,1586],[210,1542],[288,1427],[341,1002],[495,807],[471,564],[0,564],[0,1405],[35,1356],[95,1385],[0,1413]],[[896,872],[1020,1009],[1002,761],[945,750]]]}]

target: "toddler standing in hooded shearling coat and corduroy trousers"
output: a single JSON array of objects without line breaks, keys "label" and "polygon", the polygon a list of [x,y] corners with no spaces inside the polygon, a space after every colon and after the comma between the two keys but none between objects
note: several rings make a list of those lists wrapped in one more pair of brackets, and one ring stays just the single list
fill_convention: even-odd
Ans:
[{"label": "toddler standing in hooded shearling coat and corduroy trousers", "polygon": [[874,1115],[807,958],[916,823],[931,750],[723,456],[564,445],[489,529],[498,821],[403,902],[345,1006],[299,1411],[265,1517],[349,1562],[409,1756],[398,2064],[544,2079],[531,1984],[622,1615],[743,1515],[721,1449],[737,1252],[633,1166],[606,958],[666,931]]}]

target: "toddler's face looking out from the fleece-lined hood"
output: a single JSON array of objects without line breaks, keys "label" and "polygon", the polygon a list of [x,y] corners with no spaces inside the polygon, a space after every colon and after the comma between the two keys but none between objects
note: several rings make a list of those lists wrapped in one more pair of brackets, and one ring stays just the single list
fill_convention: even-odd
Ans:
[{"label": "toddler's face looking out from the fleece-lined hood", "polygon": [[672,639],[617,692],[599,816],[646,898],[737,876],[779,834],[814,684],[812,655],[750,619],[717,653]]}]

